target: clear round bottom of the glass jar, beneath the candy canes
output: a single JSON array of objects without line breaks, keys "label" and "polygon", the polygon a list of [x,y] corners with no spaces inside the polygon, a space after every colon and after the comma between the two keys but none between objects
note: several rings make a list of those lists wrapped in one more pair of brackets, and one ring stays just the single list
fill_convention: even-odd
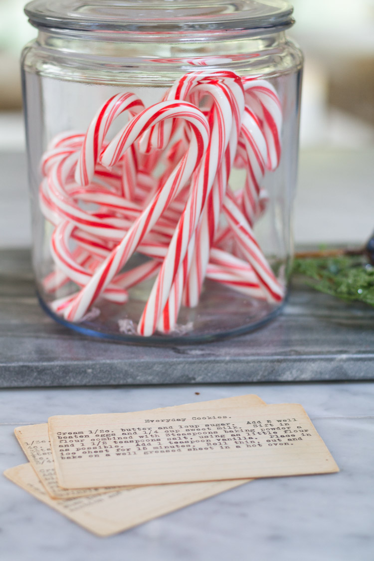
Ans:
[{"label": "clear round bottom of the glass jar, beneath the candy canes", "polygon": [[263,300],[243,296],[214,282],[207,282],[200,302],[195,308],[182,307],[173,332],[155,332],[151,337],[137,334],[137,320],[144,308],[144,298],[130,298],[125,305],[98,300],[79,323],[72,323],[50,309],[40,293],[41,307],[58,323],[81,334],[113,339],[123,343],[168,346],[218,341],[256,330],[274,319],[281,304],[271,305]]}]

